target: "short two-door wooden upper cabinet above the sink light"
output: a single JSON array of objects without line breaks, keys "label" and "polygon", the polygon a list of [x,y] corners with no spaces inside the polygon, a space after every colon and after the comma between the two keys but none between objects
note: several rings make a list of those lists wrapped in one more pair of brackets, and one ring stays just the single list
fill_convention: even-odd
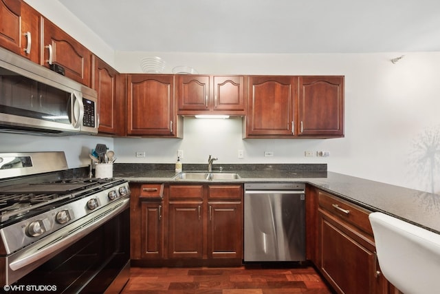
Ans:
[{"label": "short two-door wooden upper cabinet above the sink light", "polygon": [[177,75],[178,114],[245,114],[244,76]]}]

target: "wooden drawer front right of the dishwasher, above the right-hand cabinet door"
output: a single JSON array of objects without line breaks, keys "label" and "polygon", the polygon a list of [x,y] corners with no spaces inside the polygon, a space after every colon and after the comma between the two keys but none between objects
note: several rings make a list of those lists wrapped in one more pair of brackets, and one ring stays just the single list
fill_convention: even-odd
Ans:
[{"label": "wooden drawer front right of the dishwasher, above the right-hand cabinet door", "polygon": [[371,211],[351,204],[336,196],[331,196],[329,193],[319,191],[319,205],[320,207],[331,212],[333,215],[339,216],[343,220],[353,224],[362,231],[373,235],[371,224],[369,221],[369,214]]}]

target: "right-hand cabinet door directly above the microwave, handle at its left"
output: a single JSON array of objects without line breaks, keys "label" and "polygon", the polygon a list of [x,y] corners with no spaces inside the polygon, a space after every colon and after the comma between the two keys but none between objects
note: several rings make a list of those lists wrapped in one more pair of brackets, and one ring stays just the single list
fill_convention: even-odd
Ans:
[{"label": "right-hand cabinet door directly above the microwave, handle at its left", "polygon": [[65,76],[90,87],[91,52],[47,19],[43,18],[42,27],[40,64],[49,68],[61,65]]}]

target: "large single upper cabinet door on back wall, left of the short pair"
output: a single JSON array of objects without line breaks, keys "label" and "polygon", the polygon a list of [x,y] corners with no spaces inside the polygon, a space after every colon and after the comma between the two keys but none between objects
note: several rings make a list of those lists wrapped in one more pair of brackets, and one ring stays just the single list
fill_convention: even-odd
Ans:
[{"label": "large single upper cabinet door on back wall, left of the short pair", "polygon": [[172,75],[129,74],[127,134],[175,136]]}]

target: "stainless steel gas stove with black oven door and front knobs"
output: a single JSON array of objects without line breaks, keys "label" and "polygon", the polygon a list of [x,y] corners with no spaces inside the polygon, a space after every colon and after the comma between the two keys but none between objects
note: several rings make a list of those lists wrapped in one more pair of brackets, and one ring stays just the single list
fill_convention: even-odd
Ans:
[{"label": "stainless steel gas stove with black oven door and front knobs", "polygon": [[129,278],[129,184],[66,178],[66,168],[63,152],[0,154],[0,285],[119,292]]}]

